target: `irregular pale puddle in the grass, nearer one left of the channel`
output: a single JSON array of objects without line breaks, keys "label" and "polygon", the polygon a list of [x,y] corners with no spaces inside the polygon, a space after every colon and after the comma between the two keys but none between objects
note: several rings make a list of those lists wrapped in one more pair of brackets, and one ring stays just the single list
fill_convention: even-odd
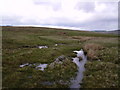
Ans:
[{"label": "irregular pale puddle in the grass, nearer one left of the channel", "polygon": [[48,64],[29,64],[29,63],[26,63],[26,64],[22,64],[20,65],[20,68],[23,68],[25,66],[35,66],[35,68],[37,70],[41,70],[41,71],[44,71],[44,69],[47,67]]}]

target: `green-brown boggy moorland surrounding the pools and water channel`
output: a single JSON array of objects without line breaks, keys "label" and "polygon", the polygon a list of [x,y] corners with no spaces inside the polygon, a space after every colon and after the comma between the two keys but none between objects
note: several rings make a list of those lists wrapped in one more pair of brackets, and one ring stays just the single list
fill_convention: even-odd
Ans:
[{"label": "green-brown boggy moorland surrounding the pools and water channel", "polygon": [[[57,44],[57,45],[56,45]],[[39,49],[38,46],[48,46]],[[76,76],[74,50],[87,53],[82,88],[119,87],[118,36],[87,31],[38,27],[2,27],[3,88],[67,88]],[[44,71],[21,64],[48,64],[64,55],[67,59]]]}]

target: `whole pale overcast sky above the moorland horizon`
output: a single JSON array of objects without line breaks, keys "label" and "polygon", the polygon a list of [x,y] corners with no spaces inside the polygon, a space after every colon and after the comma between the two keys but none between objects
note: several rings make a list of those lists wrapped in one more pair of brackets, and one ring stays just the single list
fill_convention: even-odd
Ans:
[{"label": "whole pale overcast sky above the moorland horizon", "polygon": [[118,2],[115,0],[1,0],[0,7],[0,26],[118,29]]}]

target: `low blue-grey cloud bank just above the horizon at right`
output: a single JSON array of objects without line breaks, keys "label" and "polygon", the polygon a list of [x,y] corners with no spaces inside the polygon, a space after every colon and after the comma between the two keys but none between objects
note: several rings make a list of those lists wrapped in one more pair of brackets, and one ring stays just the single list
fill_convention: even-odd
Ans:
[{"label": "low blue-grey cloud bank just above the horizon at right", "polygon": [[[64,22],[62,21],[64,20]],[[59,18],[59,22],[56,22],[56,26],[66,26],[66,27],[76,27],[76,28],[83,28],[87,30],[115,30],[118,28],[118,22],[116,19],[96,19],[89,22],[74,22],[70,19]]]}]

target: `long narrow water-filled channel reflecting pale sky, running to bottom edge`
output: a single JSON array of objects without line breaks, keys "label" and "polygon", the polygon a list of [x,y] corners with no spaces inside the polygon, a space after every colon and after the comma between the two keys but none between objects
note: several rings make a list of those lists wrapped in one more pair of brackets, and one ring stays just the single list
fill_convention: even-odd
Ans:
[{"label": "long narrow water-filled channel reflecting pale sky, running to bottom edge", "polygon": [[[70,88],[80,88],[80,83],[82,83],[83,72],[85,71],[85,63],[87,62],[87,57],[84,55],[84,51],[81,49],[80,51],[73,51],[77,53],[77,57],[73,58],[73,62],[78,66],[77,76],[71,80]],[[79,61],[79,58],[82,58]]]}]

